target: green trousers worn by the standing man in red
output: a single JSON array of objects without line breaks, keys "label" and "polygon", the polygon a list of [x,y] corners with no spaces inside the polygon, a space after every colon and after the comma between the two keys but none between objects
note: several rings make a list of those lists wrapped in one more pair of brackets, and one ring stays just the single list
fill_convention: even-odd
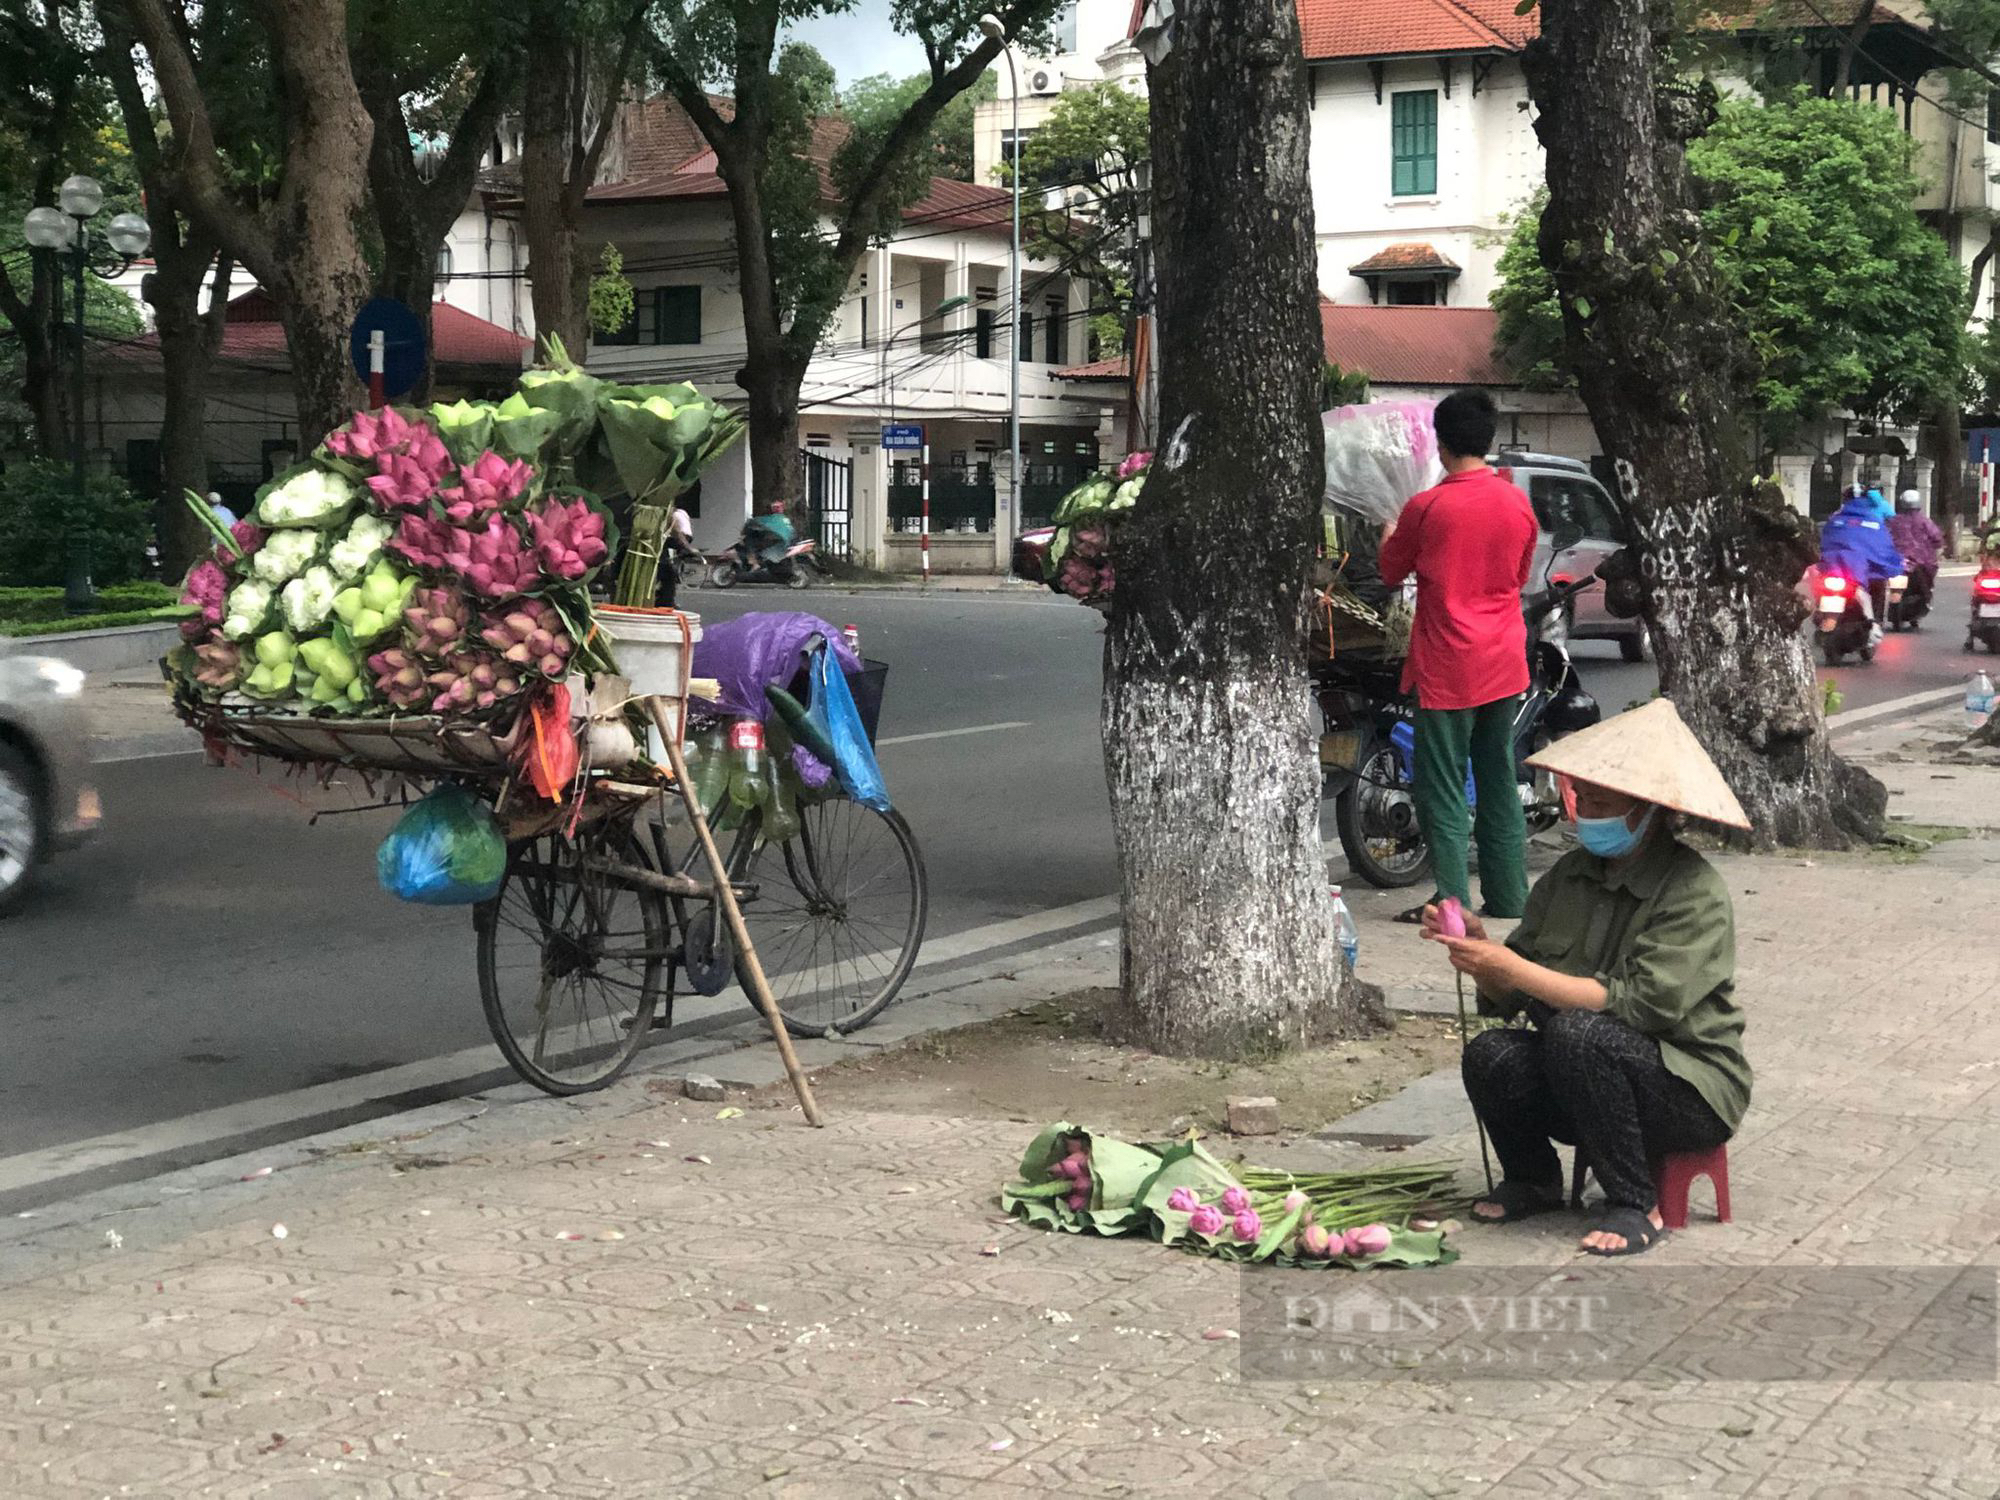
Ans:
[{"label": "green trousers worn by the standing man in red", "polygon": [[[1520,916],[1528,904],[1528,818],[1514,788],[1518,708],[1520,698],[1500,698],[1478,708],[1416,710],[1412,790],[1438,894],[1472,906],[1470,832],[1480,850],[1480,896],[1490,916]],[[1466,808],[1468,760],[1478,790],[1476,814]]]}]

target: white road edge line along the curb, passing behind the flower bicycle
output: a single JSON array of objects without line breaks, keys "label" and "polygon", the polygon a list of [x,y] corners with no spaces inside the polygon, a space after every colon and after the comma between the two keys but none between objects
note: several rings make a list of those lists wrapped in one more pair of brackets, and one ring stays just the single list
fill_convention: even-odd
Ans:
[{"label": "white road edge line along the curb, passing behind the flower bicycle", "polygon": [[[938,968],[962,958],[972,958],[974,954],[990,948],[1006,948],[1016,942],[1040,938],[1048,932],[1062,932],[1066,928],[1102,922],[1106,918],[1114,918],[1116,914],[1118,898],[1098,896],[1096,900],[1076,902],[1072,906],[1056,906],[1030,916],[990,922],[980,928],[956,932],[950,938],[926,942],[924,950],[916,958],[916,968]],[[728,1010],[732,994],[736,994],[734,988],[716,1000],[706,1002],[696,996],[676,996],[674,1012],[682,1020],[692,1020],[694,1016],[690,1016],[690,1010],[700,1010],[704,1014]],[[736,1000],[736,1004],[742,1002]],[[744,1016],[750,1018],[748,1008],[744,1008]],[[46,1150],[4,1156],[0,1158],[0,1192],[18,1192],[22,1188],[40,1186],[50,1178],[120,1166],[146,1156],[158,1156],[162,1152],[196,1150],[234,1136],[272,1130],[276,1126],[290,1124],[292,1120],[334,1114],[338,1110],[370,1104],[372,1100],[392,1098],[420,1088],[438,1088],[462,1078],[476,1078],[478,1074],[504,1066],[500,1050],[488,1042],[460,1048],[458,1052],[448,1052],[438,1058],[424,1058],[422,1062],[382,1068],[356,1078],[312,1084],[308,1088],[296,1088],[288,1094],[266,1094],[264,1098],[242,1100],[240,1104],[224,1104],[214,1110],[184,1114],[178,1120],[160,1120],[158,1124],[140,1126],[138,1130],[92,1136],[90,1140],[72,1140],[62,1146],[48,1146]]]}]

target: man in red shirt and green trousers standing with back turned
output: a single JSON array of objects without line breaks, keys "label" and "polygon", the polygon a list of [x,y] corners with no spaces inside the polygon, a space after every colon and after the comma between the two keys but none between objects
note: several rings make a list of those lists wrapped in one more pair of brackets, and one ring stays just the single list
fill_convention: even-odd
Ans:
[{"label": "man in red shirt and green trousers standing with back turned", "polygon": [[[1528,822],[1514,788],[1514,714],[1528,690],[1520,590],[1534,560],[1534,510],[1486,466],[1498,412],[1484,390],[1438,402],[1444,484],[1412,496],[1382,538],[1382,582],[1416,574],[1416,626],[1404,692],[1416,690],[1416,816],[1430,842],[1438,896],[1472,904],[1466,832],[1480,852],[1488,916],[1528,902]],[[1478,790],[1466,810],[1466,762]],[[1418,908],[1422,910],[1422,908]]]}]

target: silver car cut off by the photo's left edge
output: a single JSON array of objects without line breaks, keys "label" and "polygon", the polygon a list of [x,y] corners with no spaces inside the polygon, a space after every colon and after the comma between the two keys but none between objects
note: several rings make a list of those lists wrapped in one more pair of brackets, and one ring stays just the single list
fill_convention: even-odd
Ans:
[{"label": "silver car cut off by the photo's left edge", "polygon": [[82,694],[84,674],[56,656],[0,656],[0,916],[102,818]]}]

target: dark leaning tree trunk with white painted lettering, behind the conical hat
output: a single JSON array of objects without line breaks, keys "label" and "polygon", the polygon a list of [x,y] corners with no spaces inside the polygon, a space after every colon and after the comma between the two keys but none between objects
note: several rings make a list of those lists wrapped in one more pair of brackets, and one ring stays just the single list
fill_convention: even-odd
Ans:
[{"label": "dark leaning tree trunk with white painted lettering, behind the conical hat", "polygon": [[1828,746],[1794,584],[1818,556],[1776,486],[1752,488],[1746,348],[1700,242],[1684,144],[1714,92],[1668,80],[1672,0],[1544,0],[1524,56],[1548,156],[1542,262],[1570,364],[1614,458],[1660,690],[1736,792],[1760,846],[1880,832],[1886,792]]}]

